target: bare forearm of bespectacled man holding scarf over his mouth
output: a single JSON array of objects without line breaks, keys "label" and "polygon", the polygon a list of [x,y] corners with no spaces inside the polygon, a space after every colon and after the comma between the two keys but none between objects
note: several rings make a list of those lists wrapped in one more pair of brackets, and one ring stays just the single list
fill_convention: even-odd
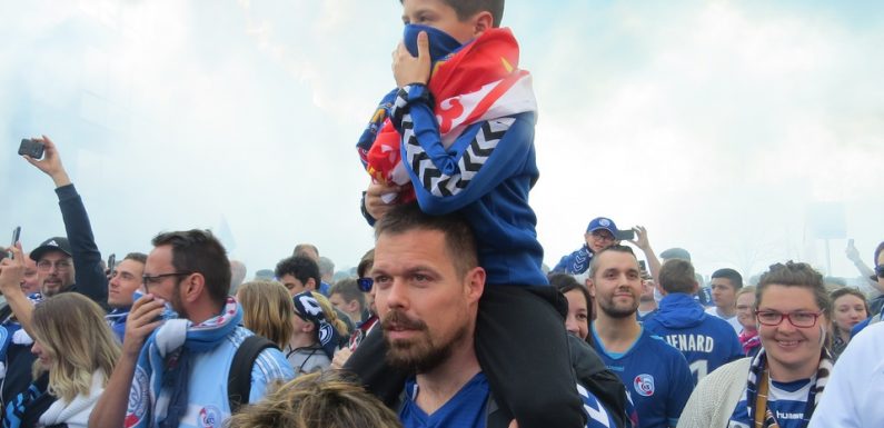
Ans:
[{"label": "bare forearm of bespectacled man holding scarf over his mouth", "polygon": [[126,420],[129,406],[129,391],[132,389],[138,355],[123,354],[117,361],[108,386],[89,416],[89,428],[120,428]]}]

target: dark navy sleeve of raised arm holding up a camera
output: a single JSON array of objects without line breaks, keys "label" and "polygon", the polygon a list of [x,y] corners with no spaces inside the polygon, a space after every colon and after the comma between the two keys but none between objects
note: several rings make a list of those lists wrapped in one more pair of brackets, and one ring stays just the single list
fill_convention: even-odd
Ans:
[{"label": "dark navy sleeve of raised arm holding up a camera", "polygon": [[89,222],[82,198],[77,193],[73,185],[62,186],[56,189],[56,193],[73,252],[71,255],[75,269],[73,290],[107,308],[108,277],[101,268],[101,252],[96,245],[92,225]]}]

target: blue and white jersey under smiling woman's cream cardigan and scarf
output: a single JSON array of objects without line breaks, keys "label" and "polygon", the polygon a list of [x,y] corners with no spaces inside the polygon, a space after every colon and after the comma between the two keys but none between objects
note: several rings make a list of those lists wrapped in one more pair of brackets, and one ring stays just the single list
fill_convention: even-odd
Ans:
[{"label": "blue and white jersey under smiling woman's cream cardigan and scarf", "polygon": [[[811,379],[795,380],[792,382],[777,382],[771,380],[767,391],[767,408],[771,409],[774,419],[779,428],[805,428],[809,418],[805,420],[804,412],[807,410],[807,397],[811,395]],[[734,414],[727,424],[727,428],[753,428],[753,417],[748,414],[746,405],[746,392],[737,402]]]}]

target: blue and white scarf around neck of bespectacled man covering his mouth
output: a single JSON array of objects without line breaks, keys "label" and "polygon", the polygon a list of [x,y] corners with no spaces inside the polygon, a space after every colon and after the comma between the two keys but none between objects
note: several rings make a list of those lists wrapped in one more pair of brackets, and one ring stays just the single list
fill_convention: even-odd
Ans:
[{"label": "blue and white scarf around neck of bespectacled man covering his mouth", "polygon": [[[192,354],[220,345],[242,320],[242,309],[228,297],[221,313],[201,324],[167,320],[141,348],[126,410],[126,428],[178,426],[187,411],[187,379]],[[168,389],[168,390],[167,390]],[[158,400],[166,391],[165,399]]]}]

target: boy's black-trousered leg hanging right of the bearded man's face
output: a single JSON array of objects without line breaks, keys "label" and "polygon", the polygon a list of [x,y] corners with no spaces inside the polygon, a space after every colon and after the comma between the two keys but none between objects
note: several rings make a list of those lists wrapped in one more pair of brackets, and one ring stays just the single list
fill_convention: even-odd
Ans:
[{"label": "boy's black-trousered leg hanging right of the bearded man's face", "polygon": [[476,355],[495,400],[519,428],[586,426],[562,305],[553,287],[486,286],[479,300]]}]

